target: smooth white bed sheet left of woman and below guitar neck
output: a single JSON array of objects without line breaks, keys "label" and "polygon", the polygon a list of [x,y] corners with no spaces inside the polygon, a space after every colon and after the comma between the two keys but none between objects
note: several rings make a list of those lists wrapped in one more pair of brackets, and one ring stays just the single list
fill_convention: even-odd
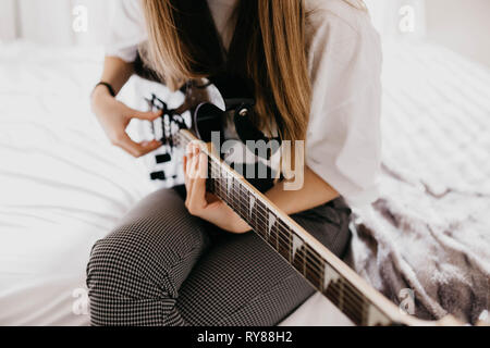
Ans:
[{"label": "smooth white bed sheet left of woman and below guitar neck", "polygon": [[[155,189],[90,113],[101,61],[97,49],[0,45],[0,325],[87,325],[90,248]],[[314,296],[284,324],[342,320]]]}]

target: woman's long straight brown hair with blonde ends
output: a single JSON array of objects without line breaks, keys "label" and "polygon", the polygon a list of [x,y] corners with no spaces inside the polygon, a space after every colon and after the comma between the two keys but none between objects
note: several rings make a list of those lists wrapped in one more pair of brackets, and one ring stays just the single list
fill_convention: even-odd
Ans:
[{"label": "woman's long straight brown hair with blonde ends", "polygon": [[[208,77],[223,64],[207,1],[142,0],[147,57],[171,89]],[[283,140],[305,140],[310,84],[301,0],[241,0],[230,47],[230,70],[252,82],[259,126],[272,122]],[[210,29],[211,28],[211,29]]]}]

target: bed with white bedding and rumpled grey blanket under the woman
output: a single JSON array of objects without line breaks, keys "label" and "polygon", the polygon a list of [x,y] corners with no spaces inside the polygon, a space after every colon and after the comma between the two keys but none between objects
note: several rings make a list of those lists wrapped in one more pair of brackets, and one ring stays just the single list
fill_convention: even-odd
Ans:
[{"label": "bed with white bedding and rumpled grey blanket under the woman", "polygon": [[[0,325],[87,325],[93,244],[156,189],[89,111],[101,61],[0,45]],[[412,289],[419,316],[475,322],[489,306],[490,73],[396,45],[383,79],[381,198],[356,211],[347,262],[395,302]],[[350,322],[316,294],[281,324]]]}]

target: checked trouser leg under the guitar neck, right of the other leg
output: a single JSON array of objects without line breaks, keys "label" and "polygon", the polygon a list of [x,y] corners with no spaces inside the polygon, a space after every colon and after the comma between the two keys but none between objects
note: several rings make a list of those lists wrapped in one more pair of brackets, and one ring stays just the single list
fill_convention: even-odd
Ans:
[{"label": "checked trouser leg under the guitar neck, right of the other leg", "polygon": [[[350,237],[350,210],[335,204],[294,219],[341,256]],[[314,294],[255,233],[222,234],[181,287],[176,308],[187,324],[275,325]]]}]

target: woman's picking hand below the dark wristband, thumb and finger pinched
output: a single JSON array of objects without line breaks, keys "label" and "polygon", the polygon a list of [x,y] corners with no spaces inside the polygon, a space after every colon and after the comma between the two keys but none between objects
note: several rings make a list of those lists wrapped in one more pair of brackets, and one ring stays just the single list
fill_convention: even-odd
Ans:
[{"label": "woman's picking hand below the dark wristband, thumb and finger pinched", "polygon": [[154,121],[161,116],[161,111],[156,113],[131,109],[112,97],[105,86],[97,86],[94,90],[91,107],[112,145],[131,156],[139,158],[161,147],[158,140],[135,142],[126,133],[132,119]]}]

